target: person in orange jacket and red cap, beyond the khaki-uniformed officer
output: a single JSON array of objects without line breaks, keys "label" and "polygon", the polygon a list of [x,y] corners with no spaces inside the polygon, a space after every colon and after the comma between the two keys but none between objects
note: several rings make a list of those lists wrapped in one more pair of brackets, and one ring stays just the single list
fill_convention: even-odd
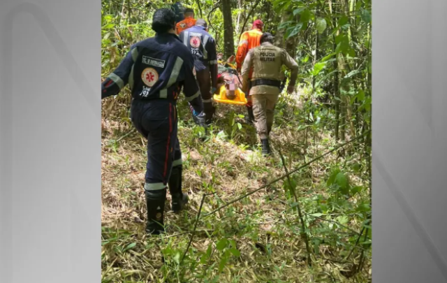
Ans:
[{"label": "person in orange jacket and red cap, beyond the khaki-uniformed officer", "polygon": [[[253,26],[251,30],[244,31],[242,36],[240,37],[239,46],[237,46],[237,53],[236,53],[236,64],[237,64],[237,72],[240,73],[240,69],[242,68],[242,64],[244,64],[244,59],[247,56],[247,53],[251,48],[256,48],[257,46],[261,45],[259,43],[261,36],[263,35],[263,27],[264,23],[262,20],[256,20],[253,22]],[[251,79],[250,72],[249,79]],[[250,80],[249,80],[250,81]],[[248,92],[250,92],[251,85],[249,85]],[[249,93],[246,94],[247,97],[247,122],[253,123],[254,122],[254,115],[253,115],[253,105],[251,103],[251,96],[249,96]]]}]

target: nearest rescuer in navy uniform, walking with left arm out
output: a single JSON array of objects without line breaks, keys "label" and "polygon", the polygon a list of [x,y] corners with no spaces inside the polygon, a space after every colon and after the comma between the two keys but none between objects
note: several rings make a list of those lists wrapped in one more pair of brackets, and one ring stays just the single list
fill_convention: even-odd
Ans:
[{"label": "nearest rescuer in navy uniform, walking with left arm out", "polygon": [[186,100],[200,113],[205,113],[196,79],[194,59],[175,34],[175,13],[168,8],[156,10],[153,38],[131,46],[118,68],[101,86],[101,98],[116,95],[129,84],[132,92],[131,120],[147,138],[145,194],[147,233],[164,230],[164,205],[169,187],[171,210],[178,212],[188,202],[182,193],[182,152],[177,138],[177,97],[183,87]]}]

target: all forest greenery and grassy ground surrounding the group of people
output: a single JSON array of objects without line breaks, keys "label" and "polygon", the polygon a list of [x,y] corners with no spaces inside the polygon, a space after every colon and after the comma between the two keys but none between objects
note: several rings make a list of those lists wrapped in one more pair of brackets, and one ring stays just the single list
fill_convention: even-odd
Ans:
[{"label": "all forest greenery and grassy ground surrounding the group of people", "polygon": [[[144,231],[146,144],[129,119],[129,89],[105,99],[102,282],[371,282],[370,0],[183,3],[210,21],[219,52],[222,7],[231,9],[236,46],[247,24],[261,18],[297,59],[300,85],[281,94],[268,159],[243,107],[217,105],[205,136],[180,99],[183,187],[191,201],[179,215],[166,213],[167,233],[156,237]],[[103,77],[132,43],[154,35],[155,8],[170,4],[102,1]]]}]

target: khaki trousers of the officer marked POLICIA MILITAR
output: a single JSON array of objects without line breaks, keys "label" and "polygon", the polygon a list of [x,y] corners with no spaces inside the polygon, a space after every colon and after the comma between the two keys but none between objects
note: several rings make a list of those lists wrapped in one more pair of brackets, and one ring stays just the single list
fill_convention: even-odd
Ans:
[{"label": "khaki trousers of the officer marked POLICIA MILITAR", "polygon": [[274,106],[279,94],[253,94],[253,114],[256,131],[261,139],[268,138],[273,126]]}]

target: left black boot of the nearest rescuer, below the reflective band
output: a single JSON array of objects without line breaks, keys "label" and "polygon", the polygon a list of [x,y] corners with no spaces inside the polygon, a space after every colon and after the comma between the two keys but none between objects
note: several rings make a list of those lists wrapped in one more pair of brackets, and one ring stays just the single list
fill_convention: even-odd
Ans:
[{"label": "left black boot of the nearest rescuer, below the reflective band", "polygon": [[146,232],[159,235],[164,231],[166,188],[145,192],[147,206]]}]

